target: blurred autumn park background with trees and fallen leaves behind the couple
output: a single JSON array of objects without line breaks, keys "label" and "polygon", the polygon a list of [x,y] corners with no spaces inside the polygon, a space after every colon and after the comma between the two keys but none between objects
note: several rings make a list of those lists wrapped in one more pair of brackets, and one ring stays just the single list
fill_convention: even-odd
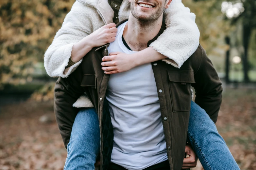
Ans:
[{"label": "blurred autumn park background with trees and fallen leaves behind the couple", "polygon": [[[43,55],[74,2],[0,0],[0,170],[63,169],[56,78]],[[217,129],[241,170],[256,169],[256,1],[182,2],[196,14],[200,43],[223,82]]]}]

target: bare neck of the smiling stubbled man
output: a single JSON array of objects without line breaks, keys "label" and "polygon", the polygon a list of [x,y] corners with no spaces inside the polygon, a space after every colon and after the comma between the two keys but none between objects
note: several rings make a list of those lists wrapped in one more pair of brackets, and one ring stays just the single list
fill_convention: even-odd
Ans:
[{"label": "bare neck of the smiling stubbled man", "polygon": [[130,13],[128,23],[123,32],[128,46],[133,51],[141,51],[147,48],[148,41],[153,39],[161,29],[162,17],[163,15],[153,22],[143,22],[134,18]]}]

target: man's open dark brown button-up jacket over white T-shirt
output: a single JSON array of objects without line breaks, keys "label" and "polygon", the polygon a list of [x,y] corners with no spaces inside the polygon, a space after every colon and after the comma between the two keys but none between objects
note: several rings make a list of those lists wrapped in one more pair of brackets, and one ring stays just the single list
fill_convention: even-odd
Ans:
[{"label": "man's open dark brown button-up jacket over white T-shirt", "polygon": [[[159,34],[148,42],[148,46],[164,29],[163,23]],[[93,48],[69,77],[57,80],[54,89],[54,111],[66,147],[78,112],[72,105],[84,92],[89,96],[99,118],[101,170],[108,168],[113,148],[113,127],[105,100],[110,75],[104,74],[101,69],[101,59],[108,55],[108,46]],[[179,69],[161,60],[153,62],[152,68],[158,89],[168,161],[172,170],[180,170],[189,123],[190,87],[196,90],[195,102],[216,122],[222,99],[221,81],[201,45]]]}]

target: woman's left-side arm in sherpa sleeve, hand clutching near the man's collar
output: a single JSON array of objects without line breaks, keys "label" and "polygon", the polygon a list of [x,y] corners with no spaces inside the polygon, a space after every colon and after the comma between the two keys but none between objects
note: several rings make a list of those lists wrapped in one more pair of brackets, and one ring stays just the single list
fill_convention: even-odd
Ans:
[{"label": "woman's left-side arm in sherpa sleeve, hand clutching near the man's collar", "polygon": [[68,77],[93,47],[114,41],[116,31],[114,23],[104,25],[94,7],[76,1],[44,54],[47,74]]}]

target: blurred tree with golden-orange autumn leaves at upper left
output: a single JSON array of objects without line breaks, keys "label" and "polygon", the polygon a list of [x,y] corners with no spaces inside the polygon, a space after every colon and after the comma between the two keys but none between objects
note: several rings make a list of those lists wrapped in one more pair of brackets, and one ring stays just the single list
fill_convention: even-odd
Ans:
[{"label": "blurred tree with golden-orange autumn leaves at upper left", "polygon": [[32,81],[75,0],[0,0],[0,90]]}]

